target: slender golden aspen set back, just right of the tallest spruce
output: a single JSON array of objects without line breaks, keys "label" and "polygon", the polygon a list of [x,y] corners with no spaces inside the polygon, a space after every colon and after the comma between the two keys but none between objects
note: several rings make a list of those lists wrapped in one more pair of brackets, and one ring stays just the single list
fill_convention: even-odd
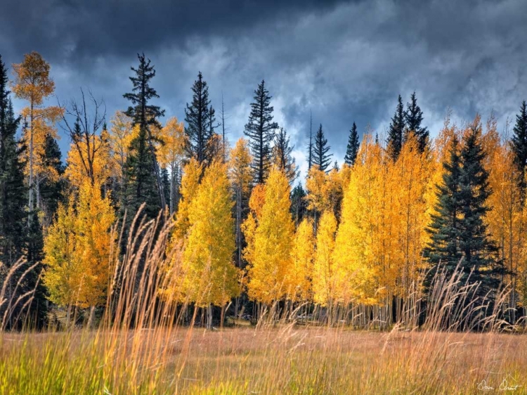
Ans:
[{"label": "slender golden aspen set back, just right of the tallest spruce", "polygon": [[183,122],[178,122],[176,117],[171,117],[160,131],[160,139],[163,144],[157,150],[157,157],[162,168],[169,170],[170,174],[170,214],[176,210],[177,198],[176,176],[181,168],[181,161],[185,153],[186,134]]}]

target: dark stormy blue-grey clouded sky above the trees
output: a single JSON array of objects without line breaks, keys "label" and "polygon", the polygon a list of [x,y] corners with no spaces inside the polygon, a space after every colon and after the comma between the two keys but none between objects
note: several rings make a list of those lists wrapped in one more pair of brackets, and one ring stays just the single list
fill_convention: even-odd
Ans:
[{"label": "dark stormy blue-grey clouded sky above the trees", "polygon": [[[352,122],[382,136],[399,93],[406,103],[416,91],[432,136],[448,108],[457,123],[494,111],[502,130],[527,98],[525,0],[3,3],[4,62],[40,52],[61,102],[91,89],[108,118],[128,105],[122,94],[131,89],[138,52],[157,70],[152,86],[164,120],[184,118],[201,71],[217,109],[223,94],[231,142],[242,136],[253,91],[265,79],[303,171],[310,111],[342,162]],[[68,144],[63,136],[63,154]]]}]

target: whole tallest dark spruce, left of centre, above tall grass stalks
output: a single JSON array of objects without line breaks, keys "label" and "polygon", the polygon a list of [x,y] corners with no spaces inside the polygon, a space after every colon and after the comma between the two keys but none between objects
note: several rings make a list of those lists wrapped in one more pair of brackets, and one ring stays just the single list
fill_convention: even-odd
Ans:
[{"label": "whole tallest dark spruce, left of centre, above tall grass stalks", "polygon": [[[130,154],[126,160],[126,173],[129,185],[127,200],[131,213],[135,213],[141,203],[147,203],[146,214],[157,215],[160,207],[164,207],[164,192],[160,168],[155,155],[154,141],[150,127],[160,128],[157,120],[164,115],[159,106],[150,104],[152,98],[158,98],[157,92],[150,86],[150,80],[155,77],[155,69],[150,65],[150,59],[145,54],[138,54],[139,67],[131,70],[135,77],[129,77],[134,85],[132,93],[124,93],[124,98],[131,102],[125,115],[131,117],[132,126],[138,125],[139,133],[131,141]],[[157,197],[155,197],[157,195]]]}]

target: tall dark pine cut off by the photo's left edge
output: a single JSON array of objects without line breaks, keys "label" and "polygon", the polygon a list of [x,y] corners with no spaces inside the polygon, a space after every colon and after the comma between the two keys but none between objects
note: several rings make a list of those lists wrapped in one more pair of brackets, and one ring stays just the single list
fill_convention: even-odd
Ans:
[{"label": "tall dark pine cut off by the photo's left edge", "polygon": [[[32,213],[32,228],[27,229],[27,188],[24,185],[24,164],[20,162],[26,148],[19,149],[15,140],[20,118],[14,115],[7,84],[7,69],[0,57],[0,283],[8,281],[4,295],[6,302],[0,306],[1,326],[3,329],[20,329],[22,325],[42,328],[46,324],[46,290],[39,284],[41,257],[39,246],[33,248],[32,240],[34,232],[41,235],[40,226]],[[20,258],[25,258],[26,262],[7,278],[7,272]]]}]

